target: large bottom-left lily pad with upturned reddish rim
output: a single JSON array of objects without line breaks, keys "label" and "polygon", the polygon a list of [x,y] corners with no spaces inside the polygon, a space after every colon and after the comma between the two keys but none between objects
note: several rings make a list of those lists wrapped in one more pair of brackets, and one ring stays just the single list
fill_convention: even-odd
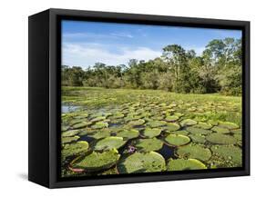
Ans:
[{"label": "large bottom-left lily pad with upturned reddish rim", "polygon": [[118,162],[120,155],[113,149],[103,153],[92,152],[79,157],[71,163],[72,168],[84,169],[87,172],[107,170]]}]

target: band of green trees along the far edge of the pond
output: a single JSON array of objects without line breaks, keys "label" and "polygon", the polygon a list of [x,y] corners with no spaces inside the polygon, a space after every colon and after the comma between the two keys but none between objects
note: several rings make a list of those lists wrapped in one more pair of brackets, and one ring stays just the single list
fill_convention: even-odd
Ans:
[{"label": "band of green trees along the far edge of the pond", "polygon": [[241,39],[212,40],[201,55],[171,44],[163,48],[160,57],[148,62],[96,63],[86,70],[63,65],[62,85],[241,95],[241,58]]}]

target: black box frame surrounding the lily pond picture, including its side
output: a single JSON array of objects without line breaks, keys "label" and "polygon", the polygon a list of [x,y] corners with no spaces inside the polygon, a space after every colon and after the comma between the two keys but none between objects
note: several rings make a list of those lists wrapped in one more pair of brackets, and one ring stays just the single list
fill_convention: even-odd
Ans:
[{"label": "black box frame surrounding the lily pond picture, including its side", "polygon": [[[63,179],[59,176],[61,113],[60,21],[84,20],[146,25],[176,25],[242,31],[242,143],[241,168],[214,171],[140,173]],[[48,188],[159,182],[250,175],[250,22],[163,15],[134,15],[65,9],[48,9],[29,16],[29,131],[28,180]]]}]

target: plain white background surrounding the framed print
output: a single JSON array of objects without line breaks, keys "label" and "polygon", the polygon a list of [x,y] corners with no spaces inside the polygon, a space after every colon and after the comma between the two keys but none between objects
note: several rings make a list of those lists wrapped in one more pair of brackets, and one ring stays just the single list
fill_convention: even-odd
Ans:
[{"label": "plain white background surrounding the framed print", "polygon": [[[256,78],[253,76],[256,74],[256,5],[253,0],[2,0],[0,7],[1,196],[241,197],[255,192]],[[251,21],[251,176],[59,190],[47,190],[27,182],[27,16],[49,7]]]}]

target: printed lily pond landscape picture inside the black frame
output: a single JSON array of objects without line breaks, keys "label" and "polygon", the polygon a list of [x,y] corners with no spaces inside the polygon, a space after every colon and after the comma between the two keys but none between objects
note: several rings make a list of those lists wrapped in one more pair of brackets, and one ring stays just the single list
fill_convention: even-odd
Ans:
[{"label": "printed lily pond landscape picture inside the black frame", "polygon": [[242,166],[241,31],[61,22],[61,176]]}]

